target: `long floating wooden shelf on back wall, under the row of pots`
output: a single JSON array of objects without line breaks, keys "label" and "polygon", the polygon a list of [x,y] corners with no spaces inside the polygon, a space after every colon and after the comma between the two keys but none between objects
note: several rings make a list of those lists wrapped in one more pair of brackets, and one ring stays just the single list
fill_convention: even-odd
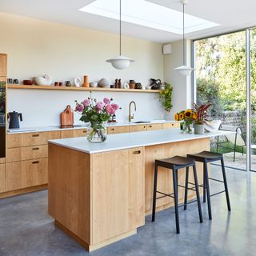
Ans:
[{"label": "long floating wooden shelf on back wall, under the row of pots", "polygon": [[91,91],[118,91],[126,93],[159,93],[161,90],[115,89],[99,87],[74,87],[74,86],[23,86],[7,85],[8,89],[32,89],[32,90],[91,90]]}]

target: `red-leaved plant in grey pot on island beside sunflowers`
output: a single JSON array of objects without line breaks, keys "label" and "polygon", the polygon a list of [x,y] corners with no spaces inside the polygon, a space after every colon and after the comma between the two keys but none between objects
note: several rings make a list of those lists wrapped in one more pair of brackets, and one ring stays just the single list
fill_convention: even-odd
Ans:
[{"label": "red-leaved plant in grey pot on island beside sunflowers", "polygon": [[207,110],[210,108],[211,104],[198,106],[193,103],[193,106],[194,113],[196,114],[196,118],[194,119],[194,134],[204,134],[204,123],[208,121],[206,119],[208,117]]}]

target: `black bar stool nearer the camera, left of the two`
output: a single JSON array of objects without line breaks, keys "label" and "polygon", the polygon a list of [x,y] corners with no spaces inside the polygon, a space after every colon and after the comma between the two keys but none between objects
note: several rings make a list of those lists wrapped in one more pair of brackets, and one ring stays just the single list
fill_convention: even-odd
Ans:
[{"label": "black bar stool nearer the camera, left of the two", "polygon": [[[165,193],[162,193],[161,191],[157,190],[158,166],[173,170],[174,193],[165,194]],[[174,158],[167,158],[164,160],[155,160],[155,165],[154,165],[154,194],[153,194],[153,207],[152,207],[152,222],[154,222],[154,219],[155,219],[156,200],[159,198],[164,198],[164,197],[174,198],[177,234],[179,234],[178,186],[181,186],[181,185],[178,185],[178,170],[182,169],[182,168],[186,168],[186,173],[188,173],[190,166],[193,166],[194,184],[195,185],[194,185],[194,188],[192,188],[192,189],[187,188],[187,190],[194,190],[197,194],[197,200],[194,200],[193,202],[195,202],[195,201],[198,202],[198,214],[199,214],[200,222],[202,223],[202,210],[201,210],[200,195],[199,195],[199,190],[198,190],[198,176],[197,176],[197,171],[196,171],[196,166],[195,166],[194,160],[189,159],[189,158],[175,156]],[[185,188],[185,186],[181,186],[181,187]],[[187,190],[186,190],[186,195],[187,195]],[[157,193],[162,194],[162,195],[157,198]]]}]

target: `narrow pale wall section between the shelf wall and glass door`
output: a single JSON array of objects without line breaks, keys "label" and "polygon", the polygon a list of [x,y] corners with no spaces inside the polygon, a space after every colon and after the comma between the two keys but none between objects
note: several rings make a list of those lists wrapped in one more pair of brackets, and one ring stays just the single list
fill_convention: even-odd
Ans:
[{"label": "narrow pale wall section between the shelf wall and glass door", "polygon": [[[191,76],[183,77],[174,70],[182,66],[182,40],[172,42],[172,53],[164,55],[164,80],[173,87],[173,109],[170,114],[191,107],[192,82]],[[191,63],[191,41],[186,40],[186,63]]]}]

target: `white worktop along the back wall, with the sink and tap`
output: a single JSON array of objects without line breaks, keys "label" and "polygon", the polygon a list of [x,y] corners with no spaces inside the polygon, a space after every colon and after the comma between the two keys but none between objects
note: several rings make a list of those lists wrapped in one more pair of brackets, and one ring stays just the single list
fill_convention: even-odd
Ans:
[{"label": "white worktop along the back wall, with the sink and tap", "polygon": [[[166,121],[166,120],[153,120],[149,122],[136,123],[136,122],[108,122],[106,123],[107,127],[114,126],[138,126],[138,125],[146,125],[146,124],[154,124],[154,123],[166,123],[166,122],[175,122],[175,121]],[[42,127],[24,127],[18,129],[9,129],[7,130],[8,134],[18,134],[18,133],[33,133],[33,132],[44,132],[44,131],[54,131],[54,130],[75,130],[75,129],[86,129],[89,126],[89,123],[74,126],[71,128],[61,128],[60,126],[42,126]]]}]

